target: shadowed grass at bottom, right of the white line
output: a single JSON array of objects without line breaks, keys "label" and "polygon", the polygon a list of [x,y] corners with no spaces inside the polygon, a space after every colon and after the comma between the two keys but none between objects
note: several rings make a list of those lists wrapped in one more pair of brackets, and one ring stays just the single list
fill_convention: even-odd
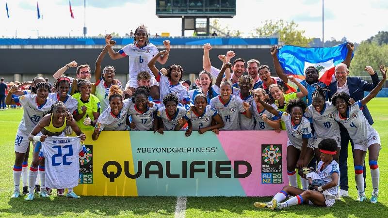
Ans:
[{"label": "shadowed grass at bottom, right of the white line", "polygon": [[[268,208],[256,208],[254,202],[268,202],[271,197],[189,197],[186,209],[194,209],[202,212],[232,213],[233,217],[276,217],[276,214],[283,216],[298,217],[388,217],[388,208],[383,203],[372,204],[369,202],[356,202],[355,199],[344,198],[343,201],[336,201],[332,207],[323,208],[314,205],[295,205],[281,211],[272,211]],[[211,214],[211,213],[210,213]],[[282,216],[282,217],[283,217]]]}]

